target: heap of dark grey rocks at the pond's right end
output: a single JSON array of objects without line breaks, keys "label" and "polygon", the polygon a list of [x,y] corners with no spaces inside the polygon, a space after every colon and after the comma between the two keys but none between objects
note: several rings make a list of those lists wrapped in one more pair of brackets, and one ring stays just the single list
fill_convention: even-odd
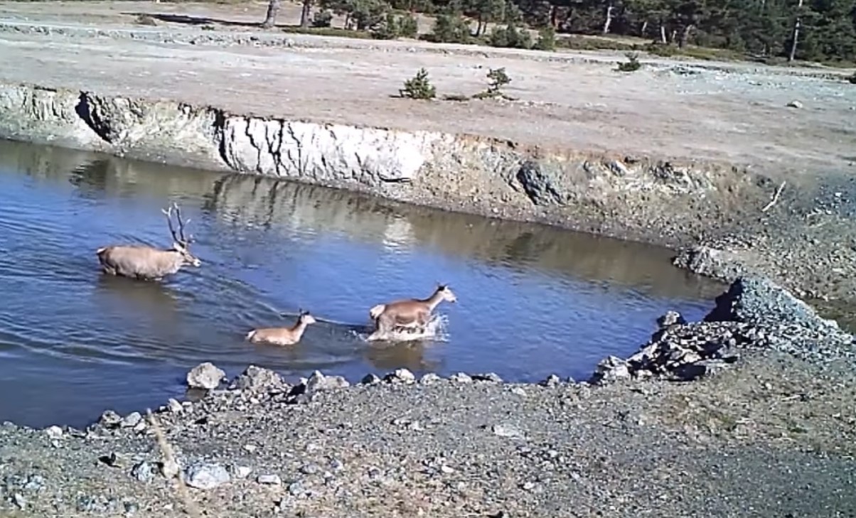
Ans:
[{"label": "heap of dark grey rocks at the pond's right end", "polygon": [[669,312],[657,324],[651,340],[627,360],[601,361],[591,383],[693,380],[739,360],[741,348],[776,349],[810,361],[856,358],[852,334],[763,277],[735,280],[702,322],[687,323]]}]

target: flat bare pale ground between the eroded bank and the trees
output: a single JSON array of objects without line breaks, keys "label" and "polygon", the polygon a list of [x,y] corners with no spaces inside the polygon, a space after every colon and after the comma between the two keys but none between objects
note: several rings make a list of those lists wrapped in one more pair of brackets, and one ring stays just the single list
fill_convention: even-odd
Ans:
[{"label": "flat bare pale ground between the eroded bank and the trees", "polygon": [[[294,23],[297,9],[286,4],[280,21]],[[136,23],[139,13],[183,18],[149,27]],[[324,38],[253,27],[264,14],[265,3],[0,3],[0,80],[771,174],[850,175],[856,162],[856,88],[836,79],[847,71],[643,59],[645,68],[623,74],[615,52]],[[80,33],[95,27],[113,37]],[[194,35],[198,45],[181,43]],[[520,101],[391,98],[420,67],[441,95],[479,92],[488,68],[505,67],[508,94]],[[786,106],[794,100],[803,107]]]}]

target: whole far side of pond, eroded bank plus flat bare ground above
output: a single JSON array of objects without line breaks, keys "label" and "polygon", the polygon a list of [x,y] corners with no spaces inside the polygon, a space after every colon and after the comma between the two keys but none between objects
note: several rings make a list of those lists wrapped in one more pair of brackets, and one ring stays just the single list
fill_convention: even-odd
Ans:
[{"label": "whole far side of pond, eroded bank plus flat bare ground above", "polygon": [[[40,24],[39,7],[2,8],[0,136],[687,247],[678,264],[708,275],[856,293],[845,82],[663,60],[619,74],[568,53],[141,28],[122,14],[167,9],[153,3],[111,7],[95,36],[85,15]],[[389,98],[415,68],[442,94],[478,92],[501,66],[519,101]]]}]

